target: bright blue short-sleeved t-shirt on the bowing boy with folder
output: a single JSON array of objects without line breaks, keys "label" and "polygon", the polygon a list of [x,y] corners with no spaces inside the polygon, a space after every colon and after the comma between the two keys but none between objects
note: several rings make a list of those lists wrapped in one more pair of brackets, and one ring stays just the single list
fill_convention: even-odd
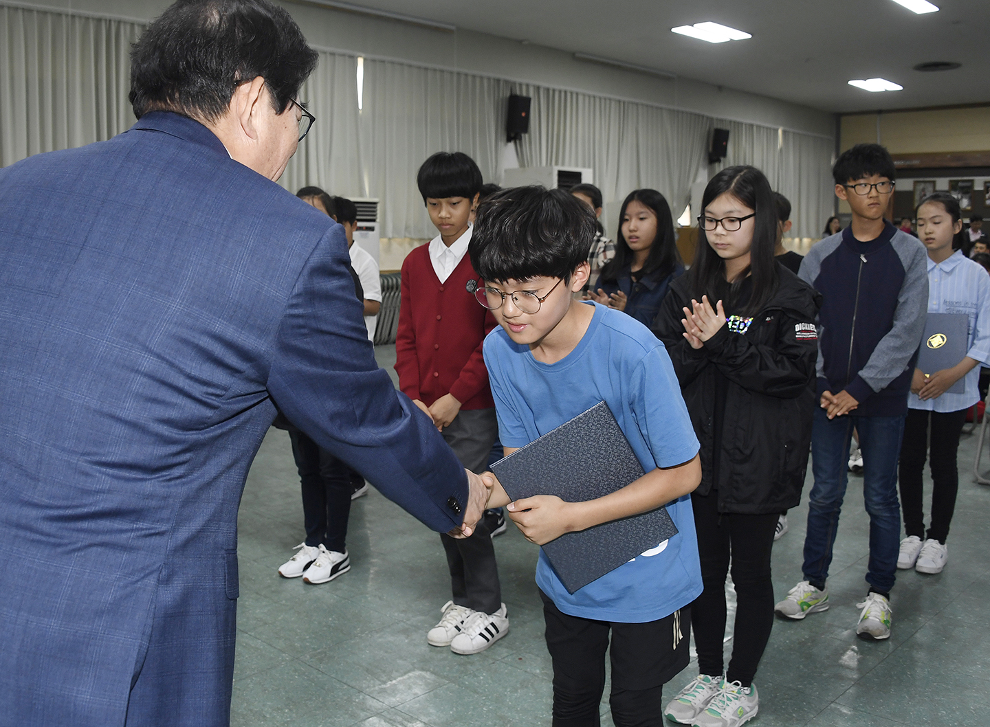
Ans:
[{"label": "bright blue short-sleeved t-shirt on the bowing boy with folder", "polygon": [[[604,401],[644,471],[691,460],[699,444],[663,344],[638,320],[594,305],[587,332],[554,364],[535,359],[528,345],[514,343],[502,327],[485,338],[499,441],[524,447]],[[537,585],[572,616],[643,623],[670,615],[698,597],[702,584],[690,496],[668,504],[667,511],[676,535],[574,593],[563,587],[541,549]]]}]

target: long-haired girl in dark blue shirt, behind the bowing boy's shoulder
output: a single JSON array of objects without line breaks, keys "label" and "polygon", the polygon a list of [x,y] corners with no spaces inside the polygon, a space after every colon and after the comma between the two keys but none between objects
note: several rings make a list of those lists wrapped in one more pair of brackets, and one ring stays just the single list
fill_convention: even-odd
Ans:
[{"label": "long-haired girl in dark blue shirt, behind the bowing boy's shoulder", "polygon": [[638,189],[622,203],[619,220],[616,256],[602,269],[589,298],[649,327],[671,281],[684,272],[670,206],[655,189]]}]

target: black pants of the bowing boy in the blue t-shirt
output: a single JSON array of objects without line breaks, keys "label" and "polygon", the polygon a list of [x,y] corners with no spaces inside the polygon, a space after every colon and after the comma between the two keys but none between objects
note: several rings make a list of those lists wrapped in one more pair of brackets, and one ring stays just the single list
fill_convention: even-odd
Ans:
[{"label": "black pants of the bowing boy in the blue t-shirt", "polygon": [[612,662],[609,704],[616,727],[661,727],[663,684],[690,660],[689,610],[645,623],[616,623],[569,616],[545,592],[540,596],[546,648],[553,660],[553,727],[599,727],[606,651]]}]

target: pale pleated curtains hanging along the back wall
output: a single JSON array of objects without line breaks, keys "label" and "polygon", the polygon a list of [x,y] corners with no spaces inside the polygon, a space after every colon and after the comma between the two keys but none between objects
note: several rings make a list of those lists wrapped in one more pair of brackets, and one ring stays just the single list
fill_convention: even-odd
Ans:
[{"label": "pale pleated curtains hanging along the back wall", "polygon": [[[0,166],[134,124],[129,53],[144,28],[0,0]],[[652,187],[679,215],[717,126],[731,131],[726,163],[758,166],[790,199],[793,234],[817,236],[831,214],[831,139],[371,58],[358,111],[355,71],[353,55],[320,52],[300,93],[317,122],[281,183],[378,198],[383,237],[435,234],[416,188],[435,151],[464,151],[485,181],[498,181],[510,93],[533,99],[530,133],[516,143],[521,164],[591,167],[606,202]]]}]

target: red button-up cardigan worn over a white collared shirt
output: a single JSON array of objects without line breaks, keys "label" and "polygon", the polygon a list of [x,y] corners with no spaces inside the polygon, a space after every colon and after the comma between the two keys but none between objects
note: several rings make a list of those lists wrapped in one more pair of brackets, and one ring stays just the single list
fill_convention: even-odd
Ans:
[{"label": "red button-up cardigan worn over a white collared shirt", "polygon": [[481,356],[495,318],[465,287],[477,277],[465,254],[442,284],[430,261],[429,242],[402,263],[395,370],[399,389],[410,399],[430,407],[451,394],[461,409],[495,406]]}]

